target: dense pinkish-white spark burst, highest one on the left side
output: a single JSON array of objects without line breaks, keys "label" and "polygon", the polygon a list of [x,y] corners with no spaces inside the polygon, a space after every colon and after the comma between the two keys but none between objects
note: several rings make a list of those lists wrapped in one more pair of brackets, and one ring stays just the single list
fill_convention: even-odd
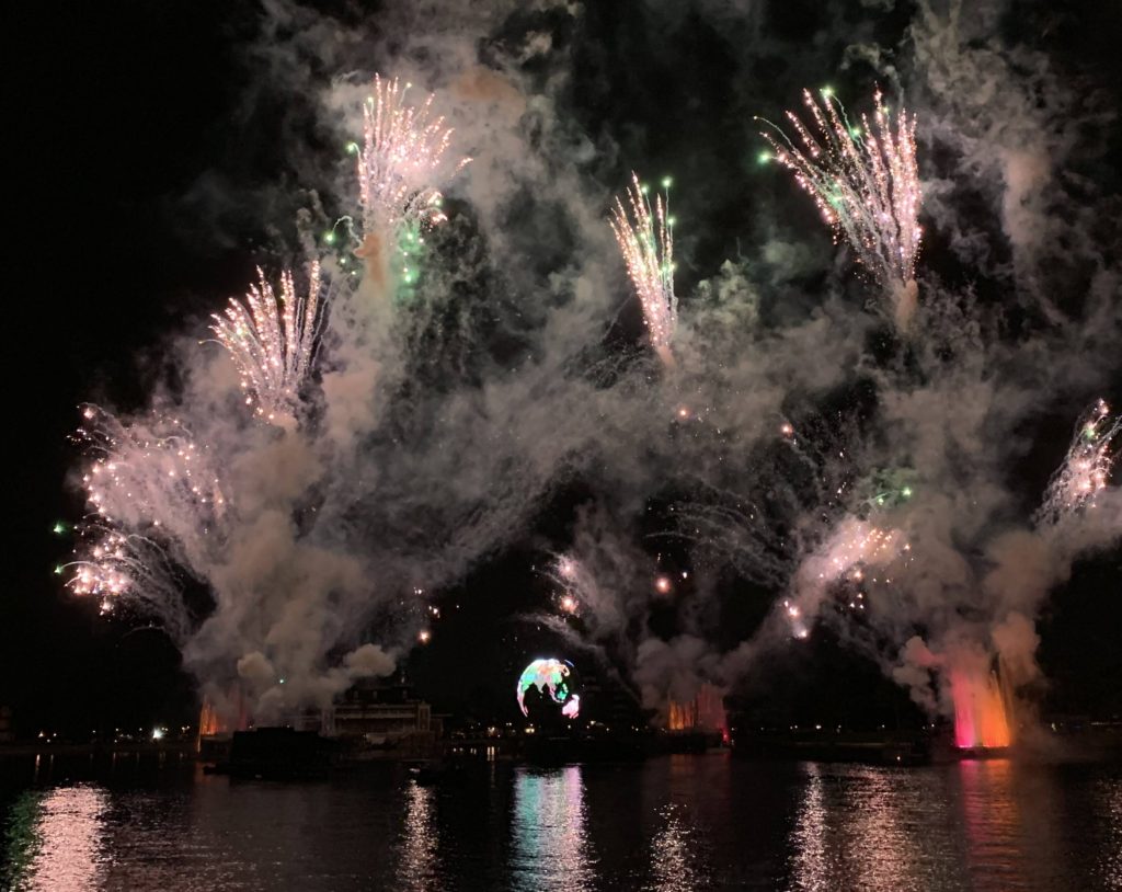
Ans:
[{"label": "dense pinkish-white spark burst, highest one on the left side", "polygon": [[[452,129],[444,119],[430,120],[433,95],[421,105],[406,102],[412,84],[375,75],[374,95],[362,109],[364,145],[358,153],[362,228],[369,235],[399,220],[429,226],[442,222],[442,195],[432,185],[438,177]],[[456,166],[461,169],[470,158]]]}]

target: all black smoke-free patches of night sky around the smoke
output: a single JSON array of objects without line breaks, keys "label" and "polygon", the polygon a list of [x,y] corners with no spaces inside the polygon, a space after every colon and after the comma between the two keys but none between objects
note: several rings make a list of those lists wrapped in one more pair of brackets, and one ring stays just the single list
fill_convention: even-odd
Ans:
[{"label": "all black smoke-free patches of night sky around the smoke", "polygon": [[[824,33],[840,58],[846,25],[857,28],[868,18],[857,2],[829,15],[817,2],[761,3],[752,27],[767,36],[769,49],[745,57],[734,37],[747,26],[735,24],[732,13],[715,15],[718,6],[683,3],[687,11],[664,15],[632,2],[589,2],[580,29],[563,16],[526,12],[493,33],[497,45],[527,29],[550,30],[555,46],[576,42],[577,74],[565,111],[587,132],[620,147],[628,160],[615,164],[618,182],[640,158],[645,169],[673,169],[679,181],[693,184],[678,213],[703,217],[706,226],[680,246],[683,294],[735,256],[739,238],[745,246],[765,238],[771,212],[785,202],[784,212],[792,215],[787,226],[808,230],[817,248],[829,250],[809,202],[794,197],[788,182],[774,175],[764,181],[754,169],[758,147],[746,121],[761,109],[778,114],[792,101],[806,83],[806,59],[830,55]],[[1110,6],[1012,3],[1005,30],[1011,40],[1041,44],[1061,80],[1113,90],[1118,99],[1122,28],[1110,18]],[[351,22],[367,20],[369,10],[359,9],[329,7]],[[913,11],[900,3],[879,15],[867,37],[896,42]],[[257,3],[31,4],[11,18],[19,58],[10,66],[7,140],[16,150],[8,166],[16,239],[8,305],[15,324],[6,351],[7,553],[13,568],[0,606],[0,704],[16,708],[24,733],[37,725],[81,734],[86,727],[174,720],[192,712],[195,695],[171,643],[142,619],[99,617],[94,605],[72,598],[53,573],[71,539],[54,535],[52,526],[81,515],[80,500],[66,486],[76,459],[67,434],[84,399],[141,405],[160,369],[165,339],[197,328],[222,300],[243,289],[256,263],[288,250],[278,243],[284,236],[256,212],[261,194],[291,185],[301,173],[278,150],[280,135],[304,134],[306,157],[313,158],[319,135],[298,98],[286,105],[258,80],[251,62],[263,22]],[[481,56],[487,52],[480,48]],[[534,64],[525,66],[530,77]],[[368,63],[370,71],[377,65]],[[870,79],[859,64],[826,76],[850,95],[863,95]],[[737,89],[736,79],[756,86]],[[677,110],[670,122],[666,109]],[[1106,134],[1105,157],[1114,159],[1116,172],[1122,169],[1116,122]],[[727,173],[712,176],[715,169]],[[240,191],[220,203],[210,190],[214,183],[233,183]],[[1104,188],[1116,195],[1118,177]],[[973,278],[942,233],[932,235],[925,263],[948,282]],[[985,281],[974,285],[986,300]],[[623,319],[625,329],[635,323],[626,311]],[[1036,445],[1017,469],[1029,481],[1026,499],[1063,451],[1070,430],[1065,408],[1049,406],[1052,421],[1037,420]],[[535,521],[539,541],[563,541],[582,499],[580,481],[562,488]],[[516,636],[534,636],[511,617],[546,597],[531,570],[537,554],[516,546],[441,596],[447,625],[410,666],[439,706],[462,709],[469,700],[505,697],[513,663],[521,659]],[[1119,653],[1113,636],[1122,629],[1120,585],[1118,552],[1107,553],[1078,564],[1072,582],[1051,599],[1041,625],[1041,659],[1052,680],[1047,696],[1057,708],[1122,708],[1122,669],[1111,656]],[[758,609],[744,613],[742,623],[758,622]],[[480,675],[498,681],[450,690],[449,668],[466,656],[478,661]],[[842,677],[866,692],[858,711],[874,715],[907,700],[828,636],[789,669],[776,677],[774,697],[797,704],[795,710],[836,702],[845,686],[839,690],[831,680]],[[854,684],[848,687],[852,693]],[[771,689],[764,680],[752,696],[766,699]]]}]

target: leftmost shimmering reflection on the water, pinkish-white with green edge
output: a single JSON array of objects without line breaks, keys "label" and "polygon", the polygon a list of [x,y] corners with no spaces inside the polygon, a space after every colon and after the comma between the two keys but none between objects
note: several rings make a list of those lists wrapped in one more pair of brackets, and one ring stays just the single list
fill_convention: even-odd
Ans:
[{"label": "leftmost shimmering reflection on the water, pinkish-white with green edge", "polygon": [[68,787],[28,791],[8,819],[11,889],[85,892],[98,886],[105,791]]}]

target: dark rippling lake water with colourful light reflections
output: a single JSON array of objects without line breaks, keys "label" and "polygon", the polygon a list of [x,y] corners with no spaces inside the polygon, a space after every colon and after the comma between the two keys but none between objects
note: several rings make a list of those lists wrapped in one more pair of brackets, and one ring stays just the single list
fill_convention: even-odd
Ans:
[{"label": "dark rippling lake water with colourful light reflections", "polygon": [[1119,890],[1122,765],[923,769],[726,755],[419,787],[191,763],[0,762],[26,890]]}]

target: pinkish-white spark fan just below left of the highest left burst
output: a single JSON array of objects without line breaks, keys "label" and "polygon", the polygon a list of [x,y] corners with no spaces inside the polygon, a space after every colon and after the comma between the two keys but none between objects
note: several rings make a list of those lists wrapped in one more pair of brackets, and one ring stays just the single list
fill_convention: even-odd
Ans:
[{"label": "pinkish-white spark fan just below left of the highest left burst", "polygon": [[297,297],[292,273],[280,276],[280,297],[257,270],[260,285],[251,285],[245,303],[230,298],[224,315],[214,314],[214,332],[230,352],[246,404],[269,422],[293,417],[300,387],[315,350],[316,311],[320,302],[320,265],[310,270],[307,297]]}]

